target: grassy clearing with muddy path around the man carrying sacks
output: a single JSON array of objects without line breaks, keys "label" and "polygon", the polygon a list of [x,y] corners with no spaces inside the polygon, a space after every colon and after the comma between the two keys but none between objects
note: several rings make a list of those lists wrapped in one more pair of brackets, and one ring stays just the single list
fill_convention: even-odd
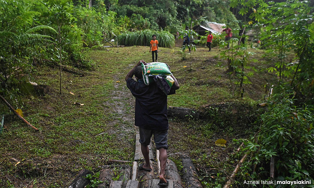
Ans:
[{"label": "grassy clearing with muddy path around the man carrying sacks", "polygon": [[[39,67],[32,81],[51,86],[51,92],[45,97],[25,97],[22,110],[27,114],[25,118],[41,131],[34,132],[15,117],[5,119],[6,129],[0,135],[0,187],[9,187],[9,184],[65,187],[79,170],[97,171],[97,166],[105,165],[106,159],[132,161],[134,98],[124,77],[138,60],[150,62],[151,54],[149,47],[143,46],[119,48],[119,53],[116,50],[90,52],[96,64],[92,75],[79,77],[63,72],[61,95],[58,70]],[[176,53],[179,48],[160,50],[158,60],[170,65],[181,86],[176,95],[168,97],[169,106],[198,108],[232,100],[226,68],[222,66],[225,63],[219,64],[219,59],[214,57],[219,53],[218,48],[208,52],[207,48],[199,47],[192,52],[192,69],[190,59],[181,61],[181,55]],[[246,87],[247,99],[262,97],[262,84],[269,75],[259,70],[252,78],[253,84]],[[70,91],[75,95],[69,94]],[[84,106],[75,106],[74,102]],[[229,174],[233,168],[230,165],[234,158],[230,158],[230,153],[237,147],[232,143],[234,134],[232,130],[206,122],[173,119],[169,156],[176,160],[175,153],[188,153],[202,175],[206,169],[218,168],[218,171],[206,172],[207,175],[213,174],[214,179],[217,173],[225,176],[223,172]],[[214,146],[218,138],[228,141],[226,148]],[[12,158],[20,163],[15,166]],[[5,175],[9,175],[12,183],[7,183]],[[212,184],[223,181],[217,178]]]}]

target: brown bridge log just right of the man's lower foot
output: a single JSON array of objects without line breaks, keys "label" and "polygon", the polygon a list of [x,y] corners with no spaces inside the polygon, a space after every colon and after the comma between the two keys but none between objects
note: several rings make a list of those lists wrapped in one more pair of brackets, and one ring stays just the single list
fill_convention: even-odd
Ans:
[{"label": "brown bridge log just right of the man's lower foot", "polygon": [[165,176],[169,180],[173,181],[173,187],[174,188],[183,188],[181,176],[180,176],[179,171],[176,167],[176,164],[170,159],[167,159]]}]

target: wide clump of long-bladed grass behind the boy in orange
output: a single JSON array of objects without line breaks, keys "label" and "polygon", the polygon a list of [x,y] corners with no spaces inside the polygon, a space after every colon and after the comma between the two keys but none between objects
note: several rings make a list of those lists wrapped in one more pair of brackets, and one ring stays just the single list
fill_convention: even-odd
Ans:
[{"label": "wide clump of long-bladed grass behind the boy in orange", "polygon": [[149,29],[136,32],[125,32],[117,37],[118,43],[127,46],[149,46],[149,42],[152,40],[152,35],[155,34],[158,40],[159,47],[170,48],[174,46],[175,39],[168,31],[152,31]]}]

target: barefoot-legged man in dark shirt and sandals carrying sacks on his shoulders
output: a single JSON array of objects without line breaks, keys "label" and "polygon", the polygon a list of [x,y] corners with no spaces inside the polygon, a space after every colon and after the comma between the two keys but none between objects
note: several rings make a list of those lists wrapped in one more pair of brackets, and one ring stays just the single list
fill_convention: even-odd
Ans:
[{"label": "barefoot-legged man in dark shirt and sandals carrying sacks on his shoulders", "polygon": [[[141,63],[146,64],[143,60],[138,61],[125,77],[127,87],[135,97],[135,126],[139,127],[139,142],[145,159],[145,163],[139,166],[139,170],[152,170],[148,145],[154,134],[156,149],[160,152],[160,181],[158,185],[167,186],[169,184],[165,179],[166,149],[168,149],[167,95],[154,82],[148,86],[145,85]],[[132,79],[133,75],[137,81]],[[171,77],[175,81],[171,90],[174,90],[172,93],[175,93],[175,90],[179,89],[179,84],[174,76],[171,75]]]}]

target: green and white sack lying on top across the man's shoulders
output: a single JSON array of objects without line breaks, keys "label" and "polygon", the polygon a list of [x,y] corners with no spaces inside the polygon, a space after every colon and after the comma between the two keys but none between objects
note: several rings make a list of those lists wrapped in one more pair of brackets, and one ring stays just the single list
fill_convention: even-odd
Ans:
[{"label": "green and white sack lying on top across the man's shoulders", "polygon": [[167,64],[161,62],[147,63],[142,66],[143,80],[146,85],[149,85],[149,82],[153,81],[153,76],[169,76],[172,75]]}]

